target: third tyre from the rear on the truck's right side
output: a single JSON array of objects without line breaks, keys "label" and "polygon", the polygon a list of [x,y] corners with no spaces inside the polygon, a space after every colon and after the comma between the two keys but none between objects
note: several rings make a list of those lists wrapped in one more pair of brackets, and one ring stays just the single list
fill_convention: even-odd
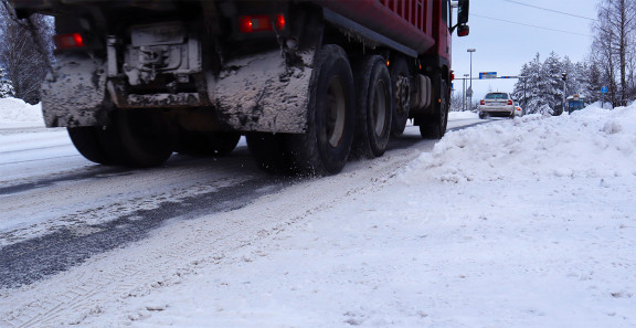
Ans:
[{"label": "third tyre from the rear on the truck's right side", "polygon": [[393,110],[393,124],[391,135],[400,137],[406,128],[409,110],[411,107],[411,74],[409,63],[402,56],[396,56],[390,66],[391,81],[393,82],[393,96],[395,106]]}]

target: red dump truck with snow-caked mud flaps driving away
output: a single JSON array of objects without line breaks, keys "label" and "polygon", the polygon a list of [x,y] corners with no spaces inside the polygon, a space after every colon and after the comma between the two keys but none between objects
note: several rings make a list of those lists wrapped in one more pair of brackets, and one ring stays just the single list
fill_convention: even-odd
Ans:
[{"label": "red dump truck with snow-caked mud flaps driving away", "polygon": [[[272,172],[379,157],[409,118],[441,138],[468,0],[13,0],[55,17],[47,127],[102,165],[223,155]],[[454,9],[457,12],[454,22]]]}]

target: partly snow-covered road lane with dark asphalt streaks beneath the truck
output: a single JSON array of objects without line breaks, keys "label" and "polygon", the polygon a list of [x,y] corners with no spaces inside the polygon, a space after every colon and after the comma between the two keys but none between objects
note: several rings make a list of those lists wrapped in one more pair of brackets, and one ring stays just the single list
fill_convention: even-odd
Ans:
[{"label": "partly snow-covered road lane with dark asphalt streaks beneath the truck", "polygon": [[[479,123],[456,120],[451,128]],[[6,130],[2,141],[0,288],[66,271],[140,241],[173,220],[229,212],[285,188],[316,184],[263,173],[243,140],[230,157],[177,155],[166,166],[148,170],[93,165],[75,151],[64,129]],[[351,162],[346,174],[385,176],[433,144],[421,140],[416,127],[410,127],[378,160],[381,166]],[[363,172],[367,166],[377,169]],[[353,191],[367,182],[347,184]],[[320,201],[329,201],[329,193],[324,193]]]}]

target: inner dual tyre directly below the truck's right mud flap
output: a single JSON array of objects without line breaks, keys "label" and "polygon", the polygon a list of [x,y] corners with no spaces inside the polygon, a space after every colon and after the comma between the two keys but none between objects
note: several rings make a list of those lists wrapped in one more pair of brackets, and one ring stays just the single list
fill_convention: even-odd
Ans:
[{"label": "inner dual tyre directly below the truck's right mud flap", "polygon": [[289,172],[289,160],[283,138],[280,134],[245,134],[247,148],[259,169],[273,174]]}]

